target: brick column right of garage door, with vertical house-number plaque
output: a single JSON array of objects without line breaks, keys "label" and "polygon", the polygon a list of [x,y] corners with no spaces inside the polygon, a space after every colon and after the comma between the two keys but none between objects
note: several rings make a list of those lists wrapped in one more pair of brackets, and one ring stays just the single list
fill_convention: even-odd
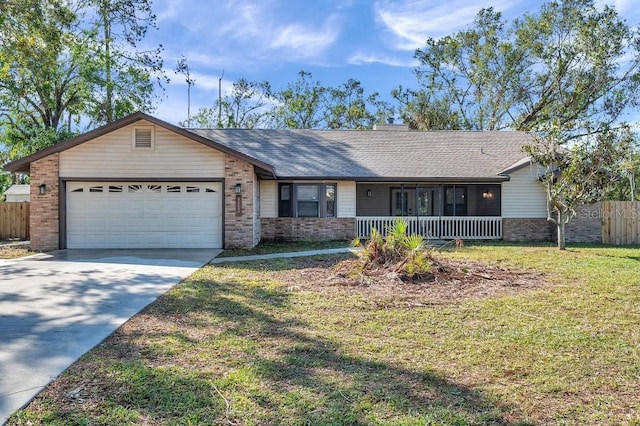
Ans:
[{"label": "brick column right of garage door, with vertical house-number plaque", "polygon": [[[242,186],[240,195],[236,193],[238,183]],[[224,186],[225,248],[252,248],[255,245],[253,165],[225,154]]]}]

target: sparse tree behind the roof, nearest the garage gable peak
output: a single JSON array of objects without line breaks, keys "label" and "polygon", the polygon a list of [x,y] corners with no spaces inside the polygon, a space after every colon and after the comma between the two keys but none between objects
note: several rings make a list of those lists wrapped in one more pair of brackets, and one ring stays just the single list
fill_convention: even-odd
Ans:
[{"label": "sparse tree behind the roof, nearest the garage gable peak", "polygon": [[[241,78],[233,83],[231,93],[225,94],[213,108],[200,108],[192,121],[196,126],[204,128],[267,127],[271,120],[272,100],[271,85],[267,81],[249,81]],[[220,106],[222,116],[218,120]],[[184,124],[180,123],[182,126]]]}]

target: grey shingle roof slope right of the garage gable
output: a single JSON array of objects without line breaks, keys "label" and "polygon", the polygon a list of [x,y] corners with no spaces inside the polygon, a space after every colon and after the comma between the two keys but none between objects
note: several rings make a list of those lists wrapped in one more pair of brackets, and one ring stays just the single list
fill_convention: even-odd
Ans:
[{"label": "grey shingle roof slope right of the garage gable", "polygon": [[526,157],[523,132],[190,129],[279,178],[496,179]]}]

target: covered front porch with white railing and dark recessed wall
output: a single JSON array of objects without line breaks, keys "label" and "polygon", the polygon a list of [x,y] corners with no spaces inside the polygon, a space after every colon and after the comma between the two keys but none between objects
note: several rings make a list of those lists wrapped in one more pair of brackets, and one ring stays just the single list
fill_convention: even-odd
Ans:
[{"label": "covered front porch with white railing and dark recessed wall", "polygon": [[499,183],[356,184],[356,236],[381,233],[398,217],[429,239],[502,239]]}]

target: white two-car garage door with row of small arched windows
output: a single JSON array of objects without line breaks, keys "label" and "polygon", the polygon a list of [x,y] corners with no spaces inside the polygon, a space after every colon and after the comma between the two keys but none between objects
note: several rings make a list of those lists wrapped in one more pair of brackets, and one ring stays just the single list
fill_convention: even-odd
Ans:
[{"label": "white two-car garage door with row of small arched windows", "polygon": [[220,182],[68,182],[68,248],[220,248]]}]

